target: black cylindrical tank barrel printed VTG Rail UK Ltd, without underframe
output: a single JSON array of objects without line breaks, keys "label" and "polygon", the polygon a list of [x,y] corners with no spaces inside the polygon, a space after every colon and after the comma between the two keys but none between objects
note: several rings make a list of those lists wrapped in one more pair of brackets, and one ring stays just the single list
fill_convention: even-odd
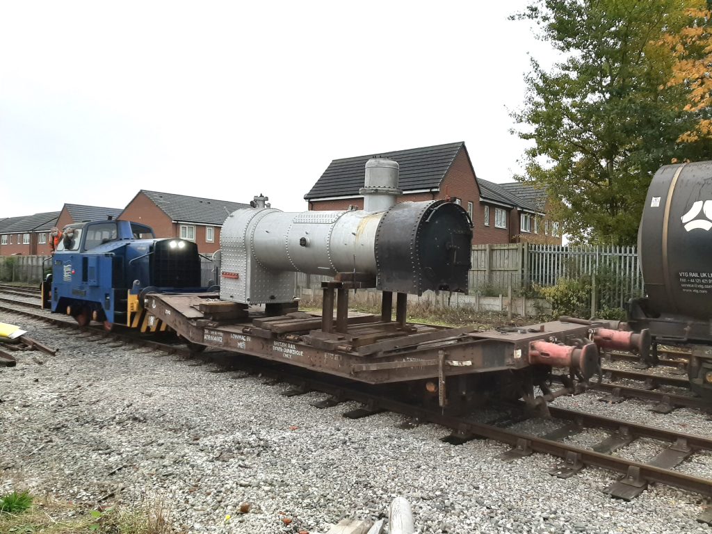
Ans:
[{"label": "black cylindrical tank barrel printed VTG Rail UK Ltd, without underframe", "polygon": [[712,162],[666,165],[656,172],[638,250],[654,310],[712,318]]}]

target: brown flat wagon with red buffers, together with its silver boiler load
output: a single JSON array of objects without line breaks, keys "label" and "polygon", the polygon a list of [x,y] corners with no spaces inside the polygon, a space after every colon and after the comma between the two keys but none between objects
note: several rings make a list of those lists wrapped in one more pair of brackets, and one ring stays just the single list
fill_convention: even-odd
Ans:
[{"label": "brown flat wagon with red buffers, together with its silver boiler load", "polygon": [[[285,213],[255,197],[221,230],[219,293],[145,294],[148,313],[190,342],[306,367],[404,397],[467,407],[488,397],[533,404],[600,370],[599,347],[644,350],[611,321],[562,320],[475,332],[407,322],[407,296],[466,292],[471,221],[458,204],[397,203],[398,165],[366,164],[364,209]],[[298,309],[294,273],[333,276],[320,315]],[[350,315],[350,291],[382,290],[379,314]],[[394,313],[395,309],[395,313]],[[550,392],[553,369],[565,384]],[[539,385],[544,397],[533,399]]]}]

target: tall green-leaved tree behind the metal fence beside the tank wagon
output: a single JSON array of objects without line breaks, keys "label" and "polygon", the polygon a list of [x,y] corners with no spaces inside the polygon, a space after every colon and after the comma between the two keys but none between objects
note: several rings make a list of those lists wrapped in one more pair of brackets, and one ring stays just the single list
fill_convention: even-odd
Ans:
[{"label": "tall green-leaved tree behind the metal fence beside the tank wagon", "polygon": [[[634,244],[646,191],[663,164],[712,157],[708,140],[682,142],[696,118],[666,36],[690,23],[693,0],[536,0],[515,18],[565,58],[536,62],[513,117],[533,141],[525,175],[547,188],[574,241]],[[690,140],[687,140],[690,141]]]}]

